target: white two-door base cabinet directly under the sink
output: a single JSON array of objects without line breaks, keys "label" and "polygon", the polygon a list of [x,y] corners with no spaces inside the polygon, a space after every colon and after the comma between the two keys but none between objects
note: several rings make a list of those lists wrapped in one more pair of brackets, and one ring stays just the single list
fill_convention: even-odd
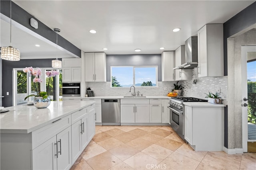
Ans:
[{"label": "white two-door base cabinet directly under the sink", "polygon": [[149,123],[149,99],[121,99],[121,123]]}]

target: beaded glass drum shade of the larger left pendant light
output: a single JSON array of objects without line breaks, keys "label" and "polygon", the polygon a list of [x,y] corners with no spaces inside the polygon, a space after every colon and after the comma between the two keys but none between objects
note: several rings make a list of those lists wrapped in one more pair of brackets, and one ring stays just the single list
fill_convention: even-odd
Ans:
[{"label": "beaded glass drum shade of the larger left pendant light", "polygon": [[9,47],[1,47],[1,59],[9,61],[20,61],[20,50]]}]

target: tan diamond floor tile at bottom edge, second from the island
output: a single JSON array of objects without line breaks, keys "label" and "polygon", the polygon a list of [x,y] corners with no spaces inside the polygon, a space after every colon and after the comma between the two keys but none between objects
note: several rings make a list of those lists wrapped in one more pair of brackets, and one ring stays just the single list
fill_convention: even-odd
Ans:
[{"label": "tan diamond floor tile at bottom edge, second from the island", "polygon": [[94,169],[94,170],[107,170],[118,163],[122,162],[116,156],[106,151],[101,154],[98,154],[90,159],[87,159],[86,162]]}]

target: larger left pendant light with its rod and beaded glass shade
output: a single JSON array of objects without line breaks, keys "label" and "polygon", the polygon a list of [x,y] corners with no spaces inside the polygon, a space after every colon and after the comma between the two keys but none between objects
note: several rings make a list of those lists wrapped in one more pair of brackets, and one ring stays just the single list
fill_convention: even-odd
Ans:
[{"label": "larger left pendant light with its rod and beaded glass shade", "polygon": [[10,2],[10,46],[1,47],[1,59],[20,61],[20,50],[12,47],[12,1]]}]

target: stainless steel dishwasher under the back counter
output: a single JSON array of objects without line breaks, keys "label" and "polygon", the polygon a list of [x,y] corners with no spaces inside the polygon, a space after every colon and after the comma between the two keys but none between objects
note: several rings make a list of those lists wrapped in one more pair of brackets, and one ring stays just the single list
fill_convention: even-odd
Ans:
[{"label": "stainless steel dishwasher under the back counter", "polygon": [[102,125],[121,125],[120,99],[102,99]]}]

